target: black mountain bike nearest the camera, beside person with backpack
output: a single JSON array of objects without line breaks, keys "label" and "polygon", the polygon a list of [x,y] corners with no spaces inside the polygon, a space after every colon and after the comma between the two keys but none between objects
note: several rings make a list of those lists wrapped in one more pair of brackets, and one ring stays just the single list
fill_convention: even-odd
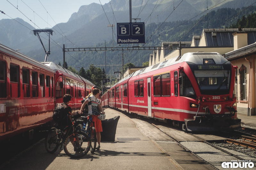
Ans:
[{"label": "black mountain bike nearest the camera, beside person with backpack", "polygon": [[71,158],[80,158],[86,155],[91,148],[90,137],[79,130],[80,122],[72,118],[72,125],[63,130],[52,127],[45,137],[45,149],[54,153],[61,145],[64,152]]}]

